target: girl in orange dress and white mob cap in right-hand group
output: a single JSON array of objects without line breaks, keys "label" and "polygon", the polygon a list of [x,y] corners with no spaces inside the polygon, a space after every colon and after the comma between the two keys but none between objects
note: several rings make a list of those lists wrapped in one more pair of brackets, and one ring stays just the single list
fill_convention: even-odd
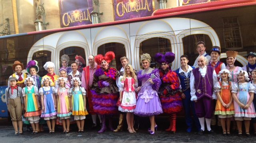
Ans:
[{"label": "girl in orange dress and white mob cap in right-hand group", "polygon": [[216,92],[218,98],[214,114],[218,115],[218,118],[220,118],[222,135],[224,136],[231,135],[230,119],[235,114],[233,97],[231,94],[232,82],[229,81],[229,78],[231,77],[230,71],[223,69],[218,73],[218,78],[220,78],[220,80],[214,85],[214,92]]}]

